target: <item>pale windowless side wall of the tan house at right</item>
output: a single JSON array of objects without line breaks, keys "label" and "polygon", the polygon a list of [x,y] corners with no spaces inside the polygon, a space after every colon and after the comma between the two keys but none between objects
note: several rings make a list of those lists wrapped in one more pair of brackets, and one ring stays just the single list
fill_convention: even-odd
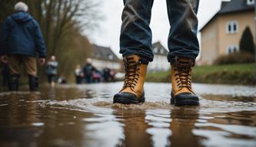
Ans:
[{"label": "pale windowless side wall of the tan house at right", "polygon": [[218,18],[201,31],[201,64],[212,64],[218,57]]}]

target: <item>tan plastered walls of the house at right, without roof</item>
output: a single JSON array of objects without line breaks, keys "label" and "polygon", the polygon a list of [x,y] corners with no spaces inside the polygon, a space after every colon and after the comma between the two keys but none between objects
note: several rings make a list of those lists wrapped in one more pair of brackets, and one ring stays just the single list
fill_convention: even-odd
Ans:
[{"label": "tan plastered walls of the house at right, without roof", "polygon": [[[227,32],[228,22],[231,21],[238,22],[238,31],[234,34]],[[213,64],[217,57],[228,54],[228,47],[236,46],[239,50],[239,42],[247,26],[254,35],[254,11],[225,14],[211,21],[201,31],[200,64]]]}]

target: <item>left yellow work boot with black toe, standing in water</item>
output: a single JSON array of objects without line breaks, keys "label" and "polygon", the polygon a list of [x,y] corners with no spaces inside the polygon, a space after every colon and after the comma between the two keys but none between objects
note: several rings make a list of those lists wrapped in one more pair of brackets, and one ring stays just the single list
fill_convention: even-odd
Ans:
[{"label": "left yellow work boot with black toe, standing in water", "polygon": [[125,83],[114,96],[114,103],[137,104],[145,102],[144,82],[148,60],[138,55],[124,57]]}]

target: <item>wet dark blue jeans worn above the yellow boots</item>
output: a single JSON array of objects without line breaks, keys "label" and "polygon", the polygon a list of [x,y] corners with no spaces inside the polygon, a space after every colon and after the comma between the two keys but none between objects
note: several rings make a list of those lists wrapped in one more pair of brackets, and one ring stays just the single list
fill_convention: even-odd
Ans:
[{"label": "wet dark blue jeans worn above the yellow boots", "polygon": [[[120,35],[120,53],[137,54],[153,60],[152,34],[149,27],[154,0],[124,0]],[[171,25],[168,36],[168,61],[174,57],[198,56],[198,4],[199,0],[166,0]],[[163,10],[164,11],[164,10]],[[159,24],[161,29],[161,24]]]}]

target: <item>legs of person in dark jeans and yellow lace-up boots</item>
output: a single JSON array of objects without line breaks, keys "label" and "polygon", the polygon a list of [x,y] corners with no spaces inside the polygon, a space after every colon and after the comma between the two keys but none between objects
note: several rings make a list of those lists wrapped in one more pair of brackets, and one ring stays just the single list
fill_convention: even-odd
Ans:
[{"label": "legs of person in dark jeans and yellow lace-up boots", "polygon": [[[151,8],[154,0],[124,0],[120,53],[125,65],[125,82],[115,94],[114,103],[145,102],[144,82],[151,51]],[[198,96],[191,87],[191,70],[198,56],[199,0],[167,0],[171,25],[168,36],[168,61],[171,64],[171,104],[197,106]]]}]

